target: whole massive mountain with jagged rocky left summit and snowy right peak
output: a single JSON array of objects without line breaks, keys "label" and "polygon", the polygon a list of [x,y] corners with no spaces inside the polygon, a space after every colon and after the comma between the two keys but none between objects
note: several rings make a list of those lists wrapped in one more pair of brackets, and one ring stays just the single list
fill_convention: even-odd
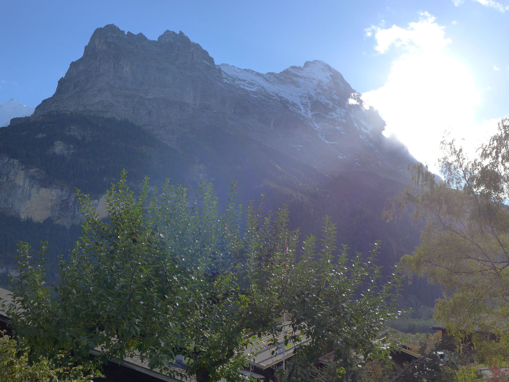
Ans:
[{"label": "whole massive mountain with jagged rocky left summit and snowy right peak", "polygon": [[[102,214],[104,189],[126,168],[133,186],[144,175],[190,188],[205,180],[219,197],[237,181],[244,205],[265,193],[267,208],[287,204],[290,226],[305,234],[320,234],[327,214],[340,242],[366,252],[380,239],[381,262],[393,265],[418,231],[380,215],[408,183],[414,159],[384,137],[384,126],[322,61],[258,73],[216,65],[182,32],[154,41],[106,25],[52,97],[0,129],[0,225],[34,221],[47,236],[61,237],[62,226],[74,232],[74,187]],[[11,254],[0,261],[12,264]]]}]

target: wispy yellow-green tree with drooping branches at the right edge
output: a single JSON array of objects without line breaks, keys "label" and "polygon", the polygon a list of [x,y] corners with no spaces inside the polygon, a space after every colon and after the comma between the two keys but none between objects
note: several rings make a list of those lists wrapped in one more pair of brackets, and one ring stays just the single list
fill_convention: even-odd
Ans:
[{"label": "wispy yellow-green tree with drooping branches at the right edge", "polygon": [[435,317],[451,333],[499,333],[509,325],[509,120],[473,159],[454,141],[442,148],[443,180],[415,165],[414,184],[385,213],[390,220],[413,205],[426,223],[403,262],[443,287]]}]

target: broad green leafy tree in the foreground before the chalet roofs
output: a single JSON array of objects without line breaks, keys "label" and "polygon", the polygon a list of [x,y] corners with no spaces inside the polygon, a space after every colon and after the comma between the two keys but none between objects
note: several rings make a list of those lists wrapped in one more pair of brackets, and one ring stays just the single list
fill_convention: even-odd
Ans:
[{"label": "broad green leafy tree in the foreground before the chalet roofs", "polygon": [[[321,251],[310,236],[298,258],[288,211],[266,213],[262,199],[243,219],[234,191],[219,212],[210,185],[189,198],[185,188],[146,180],[135,193],[124,172],[106,193],[107,220],[78,193],[83,232],[70,259],[60,260],[58,284],[45,282],[46,244],[35,260],[20,245],[10,314],[31,360],[44,354],[56,365],[93,367],[141,356],[178,376],[169,364],[182,355],[200,382],[239,380],[251,335],[276,338],[284,311],[295,333],[286,341],[310,337],[301,347],[307,358],[336,350],[345,378],[359,354],[385,354],[377,337],[398,315],[401,278],[375,285],[378,247],[351,261],[343,247],[333,261],[335,228],[325,219]],[[92,349],[100,357],[87,364]]]}]

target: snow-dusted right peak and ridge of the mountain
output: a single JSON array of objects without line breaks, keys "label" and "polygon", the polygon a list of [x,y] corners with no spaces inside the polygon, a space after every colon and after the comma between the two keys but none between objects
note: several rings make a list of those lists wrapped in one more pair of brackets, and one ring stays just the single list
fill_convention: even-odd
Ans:
[{"label": "snow-dusted right peak and ridge of the mountain", "polygon": [[355,100],[360,99],[359,93],[340,72],[323,61],[307,61],[302,67],[291,66],[280,73],[259,73],[228,64],[221,64],[220,68],[223,79],[238,91],[245,91],[261,102],[284,103],[288,110],[313,126],[327,144],[337,143],[325,137],[331,128],[346,132],[346,127],[353,124],[361,139],[370,138],[367,135],[376,130],[368,122],[370,118],[365,118],[362,101]]}]

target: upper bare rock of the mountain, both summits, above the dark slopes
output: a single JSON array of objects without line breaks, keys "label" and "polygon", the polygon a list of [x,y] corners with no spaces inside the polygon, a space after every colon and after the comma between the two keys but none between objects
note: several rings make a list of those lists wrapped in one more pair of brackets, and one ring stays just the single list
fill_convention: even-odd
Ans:
[{"label": "upper bare rock of the mountain, both summits, above the dark slopes", "polygon": [[410,158],[394,155],[378,113],[324,62],[265,74],[215,65],[182,32],[153,41],[112,24],[97,29],[33,118],[53,111],[127,119],[174,147],[220,126],[327,172],[376,168],[399,178],[394,169]]}]

